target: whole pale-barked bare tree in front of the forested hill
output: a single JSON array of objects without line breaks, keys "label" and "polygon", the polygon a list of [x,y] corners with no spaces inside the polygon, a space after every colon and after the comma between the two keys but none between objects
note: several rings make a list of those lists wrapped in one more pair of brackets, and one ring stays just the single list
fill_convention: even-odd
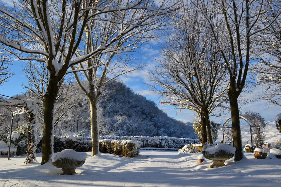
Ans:
[{"label": "whole pale-barked bare tree in front of the forested hill", "polygon": [[[85,2],[88,2],[85,0]],[[147,2],[149,6],[156,6],[155,1],[139,1],[141,4]],[[92,2],[96,4],[96,2]],[[116,6],[127,6],[128,1],[116,1]],[[83,63],[72,66],[74,76],[80,88],[86,94],[90,105],[90,122],[92,137],[92,156],[99,152],[99,130],[97,101],[102,91],[102,86],[109,81],[132,72],[142,67],[139,63],[134,63],[129,57],[129,53],[134,51],[140,44],[148,41],[153,36],[152,30],[158,29],[167,19],[166,13],[162,11],[168,6],[169,1],[163,1],[158,11],[150,9],[135,9],[119,11],[117,14],[105,14],[104,19],[93,17],[85,26],[83,34],[83,46],[77,51],[77,57],[83,57],[84,53],[89,54],[99,46],[109,46],[109,53],[95,56]],[[94,6],[94,5],[93,5]],[[101,5],[99,5],[101,6]],[[104,66],[99,66],[104,64]],[[90,67],[96,66],[91,69]],[[80,68],[80,69],[79,69]],[[77,72],[79,71],[83,72]],[[80,76],[87,79],[87,84],[80,80]]]}]

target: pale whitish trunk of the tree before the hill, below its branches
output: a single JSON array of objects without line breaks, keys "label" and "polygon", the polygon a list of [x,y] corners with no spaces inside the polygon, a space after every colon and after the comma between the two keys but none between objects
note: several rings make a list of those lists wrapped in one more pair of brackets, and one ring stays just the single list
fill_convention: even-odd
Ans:
[{"label": "pale whitish trunk of the tree before the hill, below its branches", "polygon": [[97,119],[97,102],[90,101],[90,120],[91,120],[91,136],[92,136],[92,156],[98,154],[99,151],[99,126]]}]

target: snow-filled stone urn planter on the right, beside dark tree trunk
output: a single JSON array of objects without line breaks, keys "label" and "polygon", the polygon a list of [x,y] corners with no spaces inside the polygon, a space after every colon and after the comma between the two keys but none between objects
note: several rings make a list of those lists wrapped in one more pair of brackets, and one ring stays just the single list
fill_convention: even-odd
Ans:
[{"label": "snow-filled stone urn planter on the right, beside dark tree trunk", "polygon": [[217,168],[225,166],[225,160],[229,160],[234,156],[236,148],[229,146],[225,143],[220,143],[215,146],[209,146],[205,143],[202,154],[205,158],[212,160],[212,164],[209,168]]}]

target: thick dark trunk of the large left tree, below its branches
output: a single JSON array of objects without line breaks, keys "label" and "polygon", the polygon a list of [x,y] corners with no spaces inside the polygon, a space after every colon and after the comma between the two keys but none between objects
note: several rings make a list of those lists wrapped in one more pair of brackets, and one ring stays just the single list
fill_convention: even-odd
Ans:
[{"label": "thick dark trunk of the large left tree, below its branches", "polygon": [[41,165],[47,163],[54,152],[54,125],[53,109],[59,90],[58,83],[49,81],[47,93],[44,95],[44,124],[42,138],[42,161]]}]

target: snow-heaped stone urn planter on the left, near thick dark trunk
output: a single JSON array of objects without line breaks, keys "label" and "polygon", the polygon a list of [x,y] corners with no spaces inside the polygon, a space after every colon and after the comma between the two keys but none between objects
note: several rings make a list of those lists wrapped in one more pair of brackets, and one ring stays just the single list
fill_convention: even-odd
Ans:
[{"label": "snow-heaped stone urn planter on the left, near thick dark trunk", "polygon": [[76,174],[76,167],[85,163],[87,153],[77,153],[73,149],[64,149],[61,152],[52,155],[52,164],[54,167],[61,168],[61,175]]}]

